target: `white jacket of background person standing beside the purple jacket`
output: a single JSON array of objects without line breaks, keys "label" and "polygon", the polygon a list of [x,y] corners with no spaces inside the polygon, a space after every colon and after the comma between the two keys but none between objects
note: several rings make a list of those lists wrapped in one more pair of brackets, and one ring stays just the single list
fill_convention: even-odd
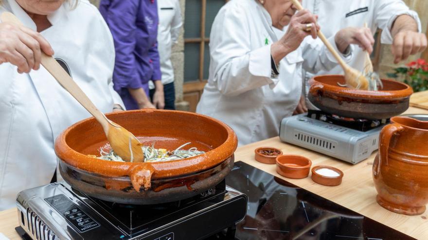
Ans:
[{"label": "white jacket of background person standing beside the purple jacket", "polygon": [[[178,0],[158,0],[158,51],[160,58],[161,82],[163,85],[174,81],[174,69],[171,63],[171,47],[177,43],[181,21],[180,3]],[[154,89],[149,81],[149,89]]]}]

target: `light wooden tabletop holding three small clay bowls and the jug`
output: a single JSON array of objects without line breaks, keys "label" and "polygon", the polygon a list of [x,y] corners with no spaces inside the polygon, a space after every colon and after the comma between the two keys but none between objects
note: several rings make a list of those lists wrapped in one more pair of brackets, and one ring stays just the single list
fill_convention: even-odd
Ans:
[{"label": "light wooden tabletop holding three small clay bowls and the jug", "polygon": [[[427,110],[410,107],[407,114],[428,114]],[[259,146],[280,148],[285,154],[303,155],[315,165],[329,165],[343,171],[342,184],[337,187],[325,187],[314,183],[310,177],[305,179],[288,179],[276,173],[275,165],[262,164],[254,160],[254,149]],[[388,225],[419,240],[428,240],[428,212],[420,216],[406,216],[390,212],[380,207],[375,200],[376,190],[372,180],[372,165],[375,154],[357,165],[335,160],[331,157],[282,143],[278,137],[239,147],[235,159],[244,161],[272,175],[281,177],[310,192],[352,209],[377,222]],[[0,212],[0,233],[12,240],[20,240],[15,232],[18,226],[16,208]]]}]

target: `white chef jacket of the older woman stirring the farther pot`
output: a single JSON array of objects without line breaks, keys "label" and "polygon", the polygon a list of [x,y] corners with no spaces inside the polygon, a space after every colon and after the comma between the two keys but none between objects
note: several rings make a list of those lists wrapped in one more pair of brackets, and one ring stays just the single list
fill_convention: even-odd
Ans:
[{"label": "white chef jacket of the older woman stirring the farther pot", "polygon": [[[231,0],[214,19],[209,79],[196,112],[231,126],[239,145],[279,134],[281,120],[300,100],[302,67],[316,71],[337,64],[324,46],[303,41],[281,60],[280,74],[272,79],[270,46],[284,34],[272,27],[270,15],[257,0]],[[334,39],[329,40],[336,47]],[[346,61],[351,58],[352,54]]]}]

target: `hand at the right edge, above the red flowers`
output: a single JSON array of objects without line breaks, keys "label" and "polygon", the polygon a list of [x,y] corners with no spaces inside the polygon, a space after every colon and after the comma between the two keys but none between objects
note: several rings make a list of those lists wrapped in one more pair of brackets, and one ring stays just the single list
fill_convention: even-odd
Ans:
[{"label": "hand at the right edge, above the red flowers", "polygon": [[427,37],[419,32],[401,31],[395,34],[391,48],[394,64],[398,64],[410,55],[424,51],[427,48]]}]

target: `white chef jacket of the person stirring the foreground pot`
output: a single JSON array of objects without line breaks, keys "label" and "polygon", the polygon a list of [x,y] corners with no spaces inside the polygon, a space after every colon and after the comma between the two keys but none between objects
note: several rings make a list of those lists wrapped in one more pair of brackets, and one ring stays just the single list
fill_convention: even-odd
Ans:
[{"label": "white chef jacket of the person stirring the foreground pot", "polygon": [[[52,27],[40,32],[54,49],[54,58],[68,66],[77,85],[102,112],[122,100],[113,90],[113,38],[97,8],[79,0],[74,10],[65,2],[48,16]],[[27,27],[33,20],[15,0],[5,0],[0,14],[12,12]],[[47,70],[18,74],[0,64],[0,210],[15,205],[17,193],[48,184],[57,159],[54,140],[65,128],[90,117]],[[103,134],[100,132],[100,134]],[[85,133],[82,132],[82,138]]]}]

